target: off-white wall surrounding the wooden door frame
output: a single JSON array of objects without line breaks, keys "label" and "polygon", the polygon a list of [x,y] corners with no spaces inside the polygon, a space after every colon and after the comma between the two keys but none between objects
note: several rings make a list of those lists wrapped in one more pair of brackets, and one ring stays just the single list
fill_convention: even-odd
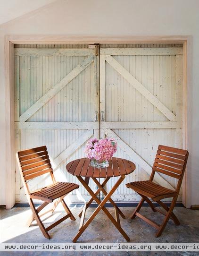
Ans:
[{"label": "off-white wall surrounding the wooden door frame", "polygon": [[193,139],[188,186],[191,205],[199,205],[199,0],[58,0],[0,26],[0,205],[6,204],[6,34],[192,35],[192,99],[188,100],[192,101]]}]

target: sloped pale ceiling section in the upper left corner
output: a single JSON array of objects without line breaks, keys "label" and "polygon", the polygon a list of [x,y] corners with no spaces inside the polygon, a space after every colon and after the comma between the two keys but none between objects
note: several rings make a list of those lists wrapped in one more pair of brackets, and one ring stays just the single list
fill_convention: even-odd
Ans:
[{"label": "sloped pale ceiling section in the upper left corner", "polygon": [[0,0],[0,25],[56,0]]}]

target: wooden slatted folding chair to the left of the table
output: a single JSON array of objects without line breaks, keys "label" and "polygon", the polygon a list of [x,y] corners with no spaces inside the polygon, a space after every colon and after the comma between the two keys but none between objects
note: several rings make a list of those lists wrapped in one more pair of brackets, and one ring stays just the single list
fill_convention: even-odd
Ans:
[{"label": "wooden slatted folding chair to the left of the table", "polygon": [[[74,183],[55,181],[46,146],[19,151],[17,152],[16,157],[28,202],[33,212],[33,215],[28,221],[28,226],[30,226],[35,219],[44,237],[50,239],[50,235],[48,233],[49,230],[66,220],[68,217],[70,217],[71,220],[75,221],[75,217],[66,205],[64,197],[74,189],[79,188],[79,185],[76,185]],[[33,179],[45,173],[50,173],[52,183],[47,187],[30,192],[27,180]],[[33,199],[41,200],[44,203],[36,209],[33,204]],[[40,218],[41,215],[45,213],[39,215],[39,212],[45,206],[52,203],[54,200],[56,201],[54,202],[52,208],[50,208],[50,210],[46,213],[50,211],[51,213],[53,213],[57,205],[61,202],[67,214],[59,219],[57,222],[45,228]]]}]

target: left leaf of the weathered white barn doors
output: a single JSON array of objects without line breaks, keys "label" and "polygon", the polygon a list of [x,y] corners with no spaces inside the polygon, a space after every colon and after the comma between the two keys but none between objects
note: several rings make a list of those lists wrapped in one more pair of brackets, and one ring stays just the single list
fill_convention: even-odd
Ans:
[{"label": "left leaf of the weathered white barn doors", "polygon": [[[66,162],[83,157],[87,140],[93,135],[99,137],[98,48],[95,45],[18,47],[15,48],[16,151],[47,145],[57,180],[78,183],[66,172]],[[49,181],[48,175],[41,176],[29,185],[35,190]],[[82,202],[87,195],[80,187],[70,200]],[[17,168],[16,202],[27,202]]]}]

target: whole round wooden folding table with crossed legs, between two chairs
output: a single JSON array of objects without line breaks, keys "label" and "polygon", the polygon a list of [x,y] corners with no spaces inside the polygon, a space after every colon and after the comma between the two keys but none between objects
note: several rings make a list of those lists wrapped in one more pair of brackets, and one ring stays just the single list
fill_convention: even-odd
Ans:
[{"label": "whole round wooden folding table with crossed legs, between two chairs", "polygon": [[[92,220],[100,212],[100,210],[102,210],[108,216],[110,221],[113,222],[117,230],[124,236],[124,238],[127,241],[130,241],[129,237],[127,236],[127,234],[124,232],[124,230],[121,228],[121,225],[120,225],[119,215],[121,215],[122,218],[125,218],[125,216],[121,212],[121,210],[116,206],[114,201],[111,199],[111,196],[119,187],[119,185],[122,183],[122,181],[125,179],[125,175],[130,174],[135,170],[135,164],[129,160],[116,158],[116,157],[112,157],[110,159],[109,166],[106,168],[94,168],[90,165],[90,162],[91,161],[88,158],[81,158],[81,159],[76,159],[72,162],[69,162],[66,165],[66,170],[72,175],[75,175],[76,178],[82,183],[83,187],[91,195],[90,201],[84,205],[82,212],[79,214],[79,216],[81,217],[80,227],[77,235],[73,239],[73,242],[76,242],[77,239],[79,239],[83,231],[86,230],[86,228],[89,226]],[[85,177],[85,179],[83,179],[82,177]],[[107,192],[104,186],[106,185],[108,180],[112,177],[119,177],[119,179],[116,181],[116,184],[111,188],[111,190]],[[90,178],[98,186],[98,189],[95,193],[89,187]],[[100,184],[100,182],[96,178],[105,178],[105,179],[102,182],[102,184]],[[102,201],[100,201],[100,199],[97,197],[100,191],[105,196]],[[89,219],[84,223],[86,209],[89,207],[89,205],[91,205],[93,200],[96,201],[96,203],[98,204],[98,207],[91,214]],[[115,207],[116,218],[114,218],[105,207],[105,204],[107,203],[107,201],[109,201]]]}]

